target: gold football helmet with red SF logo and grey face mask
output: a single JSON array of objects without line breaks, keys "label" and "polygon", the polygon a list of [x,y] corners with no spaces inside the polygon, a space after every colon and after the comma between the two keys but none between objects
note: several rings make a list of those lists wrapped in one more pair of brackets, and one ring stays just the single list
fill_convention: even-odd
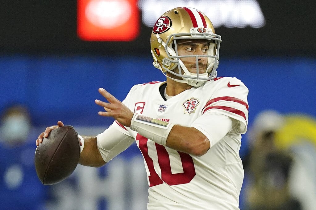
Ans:
[{"label": "gold football helmet with red SF logo and grey face mask", "polygon": [[[177,40],[205,39],[210,40],[207,55],[178,55]],[[212,41],[213,40],[213,41]],[[173,79],[199,87],[207,80],[216,77],[219,60],[221,36],[215,34],[212,22],[202,12],[189,7],[177,7],[164,13],[156,21],[150,38],[153,65],[166,75],[169,72],[182,79]],[[198,69],[200,57],[207,57],[208,63],[205,73],[191,73],[180,60],[182,57],[195,57]],[[174,70],[178,67],[179,70]]]}]

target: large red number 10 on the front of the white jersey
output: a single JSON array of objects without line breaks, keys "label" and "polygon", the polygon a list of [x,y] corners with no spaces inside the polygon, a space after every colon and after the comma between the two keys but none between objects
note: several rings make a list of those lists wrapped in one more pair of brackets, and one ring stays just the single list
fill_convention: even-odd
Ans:
[{"label": "large red number 10 on the front of the white jersey", "polygon": [[148,177],[149,187],[156,186],[158,184],[163,184],[163,182],[167,183],[168,185],[187,184],[191,182],[191,180],[195,176],[195,168],[193,160],[190,155],[178,151],[182,163],[183,172],[173,174],[171,173],[170,159],[166,148],[160,144],[155,143],[158,163],[161,169],[160,178],[157,172],[155,171],[153,160],[148,155],[148,138],[137,134],[136,140],[139,140],[138,147],[144,156],[150,173],[150,176]]}]

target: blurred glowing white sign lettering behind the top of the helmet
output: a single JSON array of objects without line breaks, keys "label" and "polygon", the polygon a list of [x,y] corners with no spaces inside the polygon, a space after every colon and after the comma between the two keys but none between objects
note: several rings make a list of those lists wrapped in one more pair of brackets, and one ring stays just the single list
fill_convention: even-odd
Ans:
[{"label": "blurred glowing white sign lettering behind the top of the helmet", "polygon": [[142,20],[146,26],[153,27],[156,20],[168,9],[176,7],[199,9],[212,20],[214,27],[261,28],[265,25],[264,15],[256,0],[140,0]]}]

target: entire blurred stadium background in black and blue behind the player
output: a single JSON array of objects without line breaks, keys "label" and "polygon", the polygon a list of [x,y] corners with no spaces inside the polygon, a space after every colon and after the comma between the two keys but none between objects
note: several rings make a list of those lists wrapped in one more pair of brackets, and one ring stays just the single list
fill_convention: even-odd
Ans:
[{"label": "entire blurred stadium background in black and blue behind the player", "polygon": [[316,22],[313,1],[0,1],[0,204],[4,209],[146,209],[136,144],[105,167],[78,166],[43,186],[35,140],[62,120],[96,135],[112,119],[95,99],[119,100],[139,83],[164,81],[149,37],[169,9],[200,9],[222,36],[218,76],[249,88],[240,156],[240,209],[315,209]]}]

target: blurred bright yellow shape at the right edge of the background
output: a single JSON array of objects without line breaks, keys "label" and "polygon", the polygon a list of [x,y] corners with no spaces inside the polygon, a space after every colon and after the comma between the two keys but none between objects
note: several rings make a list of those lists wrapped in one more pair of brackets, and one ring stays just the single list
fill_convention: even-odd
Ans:
[{"label": "blurred bright yellow shape at the right edge of the background", "polygon": [[287,149],[293,144],[304,141],[316,147],[316,120],[308,115],[289,114],[284,117],[284,126],[276,131],[275,145]]}]

